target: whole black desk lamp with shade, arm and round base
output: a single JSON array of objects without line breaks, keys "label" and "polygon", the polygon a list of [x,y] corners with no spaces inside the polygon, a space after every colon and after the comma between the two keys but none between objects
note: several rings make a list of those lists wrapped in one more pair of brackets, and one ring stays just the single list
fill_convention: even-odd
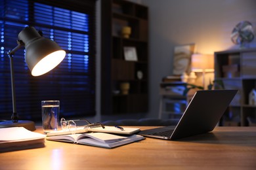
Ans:
[{"label": "whole black desk lamp with shade, arm and round base", "polygon": [[16,112],[16,94],[14,87],[13,56],[22,46],[26,49],[26,63],[33,76],[43,75],[56,67],[66,56],[66,52],[50,39],[42,37],[34,27],[25,27],[18,34],[18,46],[8,52],[11,66],[12,84],[12,120],[0,122],[0,127],[25,127],[35,130],[35,123],[28,120],[18,120]]}]

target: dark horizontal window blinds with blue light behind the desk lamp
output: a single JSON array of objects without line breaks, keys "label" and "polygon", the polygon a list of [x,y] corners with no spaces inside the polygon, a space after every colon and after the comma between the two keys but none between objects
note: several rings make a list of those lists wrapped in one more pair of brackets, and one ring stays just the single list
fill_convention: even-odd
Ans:
[{"label": "dark horizontal window blinds with blue light behind the desk lamp", "polygon": [[66,58],[49,73],[34,77],[24,48],[14,55],[14,84],[20,119],[41,119],[42,100],[60,100],[60,116],[95,114],[95,1],[0,2],[0,119],[12,114],[11,73],[7,52],[28,25],[57,42]]}]

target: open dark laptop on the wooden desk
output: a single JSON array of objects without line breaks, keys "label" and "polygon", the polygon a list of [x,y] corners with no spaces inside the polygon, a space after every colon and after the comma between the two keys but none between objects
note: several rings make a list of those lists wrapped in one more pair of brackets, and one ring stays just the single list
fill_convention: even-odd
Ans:
[{"label": "open dark laptop on the wooden desk", "polygon": [[144,137],[176,140],[212,131],[238,90],[200,90],[194,94],[177,126],[140,131]]}]

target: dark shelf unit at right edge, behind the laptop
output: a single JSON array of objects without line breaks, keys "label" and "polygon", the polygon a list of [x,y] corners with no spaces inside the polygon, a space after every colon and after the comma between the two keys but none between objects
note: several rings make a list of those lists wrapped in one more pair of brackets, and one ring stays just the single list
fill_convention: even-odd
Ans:
[{"label": "dark shelf unit at right edge, behind the laptop", "polygon": [[[224,126],[251,126],[256,106],[249,105],[249,93],[256,89],[256,49],[215,52],[215,88],[237,89],[223,116]],[[221,82],[221,83],[220,83]],[[248,121],[249,120],[249,121]]]}]

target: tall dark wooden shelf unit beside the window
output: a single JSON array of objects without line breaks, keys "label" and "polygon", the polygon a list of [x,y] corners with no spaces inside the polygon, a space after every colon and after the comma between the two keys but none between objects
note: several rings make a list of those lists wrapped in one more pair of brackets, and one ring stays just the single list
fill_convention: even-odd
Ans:
[{"label": "tall dark wooden shelf unit beside the window", "polygon": [[[104,0],[101,5],[101,112],[147,112],[148,7],[122,0]],[[131,27],[129,38],[121,35],[125,26]],[[125,60],[125,46],[136,49],[137,61]],[[130,86],[125,95],[120,93],[123,82]]]}]

